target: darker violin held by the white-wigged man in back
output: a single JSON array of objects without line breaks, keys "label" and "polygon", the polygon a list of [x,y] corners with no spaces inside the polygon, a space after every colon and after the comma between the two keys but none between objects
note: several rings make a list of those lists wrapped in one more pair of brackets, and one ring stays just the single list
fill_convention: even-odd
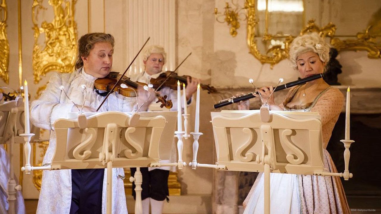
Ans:
[{"label": "darker violin held by the white-wigged man in back", "polygon": [[[164,73],[161,73],[156,79],[151,78],[150,83],[154,85],[154,88],[158,88],[160,85],[164,83],[162,86],[167,86],[173,90],[177,90],[177,81],[179,80],[180,82],[187,85],[187,78],[189,78],[190,80],[192,79],[191,76],[179,76],[177,75],[177,73],[174,73],[172,71],[166,71]],[[200,84],[200,86],[202,89],[208,90],[208,94],[217,92],[217,90],[213,86],[205,84]],[[182,89],[182,84],[180,84],[180,87]]]}]

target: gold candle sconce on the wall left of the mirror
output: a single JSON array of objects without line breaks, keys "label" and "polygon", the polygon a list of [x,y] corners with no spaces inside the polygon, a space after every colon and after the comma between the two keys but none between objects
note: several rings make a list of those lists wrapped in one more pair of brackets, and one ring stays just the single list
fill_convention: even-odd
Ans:
[{"label": "gold candle sconce on the wall left of the mirror", "polygon": [[[214,14],[216,16],[216,21],[218,21],[219,23],[226,22],[227,25],[230,26],[230,35],[232,35],[232,37],[235,37],[237,35],[237,29],[239,29],[240,27],[239,21],[247,20],[246,11],[242,11],[247,9],[247,4],[245,3],[245,6],[243,8],[240,8],[240,6],[237,3],[234,3],[233,0],[231,2],[232,5],[235,6],[235,9],[232,9],[229,6],[229,3],[225,2],[224,13],[218,12],[218,8],[215,8]],[[241,18],[242,15],[244,18]]]}]

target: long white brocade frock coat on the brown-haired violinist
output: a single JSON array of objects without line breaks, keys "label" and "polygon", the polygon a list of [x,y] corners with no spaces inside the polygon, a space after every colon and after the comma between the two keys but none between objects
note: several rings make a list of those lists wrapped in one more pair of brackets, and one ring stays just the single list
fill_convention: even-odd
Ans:
[{"label": "long white brocade frock coat on the brown-haired violinist", "polygon": [[[49,146],[43,159],[44,165],[51,163],[56,147],[56,134],[51,130],[51,126],[58,118],[67,117],[67,113],[74,107],[74,104],[61,91],[60,86],[64,86],[67,95],[78,107],[82,106],[85,98],[85,106],[97,109],[104,97],[93,89],[94,80],[96,77],[85,73],[82,68],[73,73],[54,73],[41,97],[32,102],[30,110],[32,123],[39,128],[50,130]],[[82,85],[86,86],[86,96]],[[131,112],[135,105],[135,97],[124,97],[118,93],[112,93],[98,112]],[[103,214],[106,213],[106,173],[107,169],[104,172],[102,190]],[[122,168],[114,168],[112,173],[113,214],[127,213],[123,179],[118,175],[124,177]],[[43,171],[37,214],[69,214],[72,196],[71,182],[70,169]]]}]

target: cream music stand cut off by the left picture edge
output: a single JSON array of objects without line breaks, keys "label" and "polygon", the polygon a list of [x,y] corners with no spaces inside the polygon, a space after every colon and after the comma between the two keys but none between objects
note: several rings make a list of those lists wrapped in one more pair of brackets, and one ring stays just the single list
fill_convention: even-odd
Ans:
[{"label": "cream music stand cut off by the left picture edge", "polygon": [[[8,212],[2,211],[8,214],[15,213],[15,201],[16,191],[21,191],[21,185],[16,185],[14,179],[13,170],[13,145],[15,143],[24,143],[24,138],[18,136],[18,134],[24,132],[24,103],[22,97],[17,96],[13,101],[0,102],[0,144],[8,144],[9,155],[9,179],[6,191],[8,194],[9,208]],[[38,142],[35,139],[39,138],[39,129],[35,126],[31,128],[32,133],[35,133],[32,137],[32,142]],[[4,187],[5,188],[5,187]]]}]

